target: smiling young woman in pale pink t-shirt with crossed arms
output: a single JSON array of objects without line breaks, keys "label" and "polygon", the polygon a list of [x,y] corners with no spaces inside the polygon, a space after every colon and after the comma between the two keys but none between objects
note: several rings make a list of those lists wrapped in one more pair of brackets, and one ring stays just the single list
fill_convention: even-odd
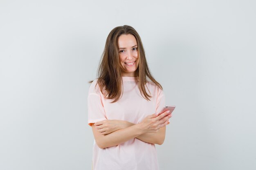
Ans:
[{"label": "smiling young woman in pale pink t-shirt with crossed arms", "polygon": [[163,144],[171,115],[157,114],[165,95],[131,26],[109,33],[97,77],[88,94],[88,124],[95,139],[92,169],[159,170],[155,144]]}]

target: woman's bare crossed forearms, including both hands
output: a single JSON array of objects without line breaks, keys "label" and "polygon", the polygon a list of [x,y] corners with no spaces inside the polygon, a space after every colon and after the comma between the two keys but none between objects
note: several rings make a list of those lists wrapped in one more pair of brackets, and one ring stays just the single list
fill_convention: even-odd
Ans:
[{"label": "woman's bare crossed forearms, including both hands", "polygon": [[[99,148],[107,148],[137,138],[151,144],[162,145],[165,139],[166,125],[171,115],[148,115],[139,124],[121,120],[104,120],[92,124],[94,139]],[[104,131],[105,130],[105,131]],[[108,130],[108,134],[106,134]],[[104,131],[104,132],[103,132]]]}]

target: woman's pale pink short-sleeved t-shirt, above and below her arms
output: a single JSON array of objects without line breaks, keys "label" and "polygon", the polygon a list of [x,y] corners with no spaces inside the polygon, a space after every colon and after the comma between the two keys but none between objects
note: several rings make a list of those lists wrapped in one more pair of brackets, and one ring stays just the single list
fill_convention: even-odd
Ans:
[{"label": "woman's pale pink short-sleeved t-shirt, above and below her arms", "polygon": [[[138,124],[147,115],[159,113],[165,105],[163,91],[154,83],[147,82],[150,101],[141,96],[138,77],[122,77],[124,93],[115,103],[106,99],[95,79],[88,94],[88,124],[105,119],[125,120]],[[147,88],[146,88],[147,90]],[[148,92],[148,91],[147,91]],[[155,144],[130,139],[117,146],[99,148],[94,140],[92,153],[93,170],[159,170]]]}]

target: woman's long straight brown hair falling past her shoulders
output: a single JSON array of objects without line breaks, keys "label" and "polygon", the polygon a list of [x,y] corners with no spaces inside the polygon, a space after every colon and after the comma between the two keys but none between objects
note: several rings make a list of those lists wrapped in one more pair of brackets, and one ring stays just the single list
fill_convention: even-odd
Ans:
[{"label": "woman's long straight brown hair falling past her shoulders", "polygon": [[[138,68],[135,71],[135,75],[139,77],[139,91],[141,95],[143,94],[142,97],[144,97],[146,100],[150,100],[149,98],[152,96],[146,92],[145,88],[147,78],[155,83],[160,89],[163,88],[150,73],[139,34],[134,28],[128,25],[117,26],[108,34],[106,45],[101,56],[101,63],[98,67],[97,84],[99,84],[101,93],[103,93],[103,88],[105,88],[104,91],[106,93],[104,95],[107,99],[114,99],[114,101],[111,103],[117,102],[121,98],[123,92],[123,79],[121,76],[121,68],[119,64],[118,38],[122,34],[131,34],[136,38],[138,45],[139,63]],[[89,81],[89,83],[92,82],[93,80]]]}]

